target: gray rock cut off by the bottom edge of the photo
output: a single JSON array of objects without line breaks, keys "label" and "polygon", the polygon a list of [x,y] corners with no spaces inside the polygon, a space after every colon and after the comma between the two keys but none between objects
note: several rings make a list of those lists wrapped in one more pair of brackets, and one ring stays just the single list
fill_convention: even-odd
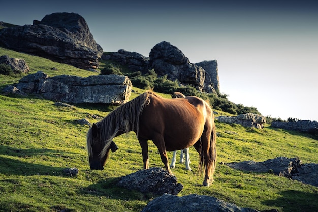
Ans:
[{"label": "gray rock cut off by the bottom edge of the photo", "polygon": [[227,203],[215,197],[191,194],[178,197],[164,194],[147,204],[142,212],[258,212],[251,208],[241,208],[233,203]]}]

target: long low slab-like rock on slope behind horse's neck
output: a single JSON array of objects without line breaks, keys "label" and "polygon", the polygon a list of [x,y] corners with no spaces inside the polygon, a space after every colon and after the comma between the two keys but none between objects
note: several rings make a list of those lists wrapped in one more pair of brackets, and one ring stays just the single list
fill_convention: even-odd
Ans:
[{"label": "long low slab-like rock on slope behind horse's neck", "polygon": [[74,104],[124,104],[129,101],[132,91],[132,83],[126,76],[48,77],[42,71],[23,77],[15,87],[23,93],[37,94],[45,99]]}]

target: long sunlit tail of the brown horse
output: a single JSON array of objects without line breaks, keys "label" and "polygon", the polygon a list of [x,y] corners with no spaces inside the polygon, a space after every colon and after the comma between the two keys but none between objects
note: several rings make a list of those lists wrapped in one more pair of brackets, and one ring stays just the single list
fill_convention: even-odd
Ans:
[{"label": "long sunlit tail of the brown horse", "polygon": [[[199,142],[199,155],[200,155],[200,160],[199,160],[199,167],[198,167],[198,171],[199,173],[202,173],[202,168],[204,167],[204,165],[206,164],[207,167],[205,167],[208,170],[208,175],[210,178],[210,183],[213,182],[213,174],[215,171],[215,167],[216,167],[216,127],[215,127],[215,123],[214,123],[214,117],[212,119],[212,126],[211,126],[211,138],[210,138],[210,143],[209,143],[209,147],[207,149],[207,158],[205,159],[204,157],[204,146],[203,145],[203,141],[202,138],[200,139]],[[205,160],[207,160],[207,163],[205,163]]]}]

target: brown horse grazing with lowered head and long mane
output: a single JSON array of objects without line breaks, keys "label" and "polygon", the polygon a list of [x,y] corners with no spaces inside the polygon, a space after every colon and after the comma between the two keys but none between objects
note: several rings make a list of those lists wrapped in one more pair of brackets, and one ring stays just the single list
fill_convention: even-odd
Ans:
[{"label": "brown horse grazing with lowered head and long mane", "polygon": [[213,182],[216,132],[212,109],[204,100],[195,96],[165,99],[154,92],[145,92],[118,107],[88,130],[90,168],[103,170],[113,138],[130,131],[139,140],[144,169],[149,168],[148,140],[157,146],[171,175],[166,151],[193,145],[200,155],[199,170],[205,165],[203,185]]}]

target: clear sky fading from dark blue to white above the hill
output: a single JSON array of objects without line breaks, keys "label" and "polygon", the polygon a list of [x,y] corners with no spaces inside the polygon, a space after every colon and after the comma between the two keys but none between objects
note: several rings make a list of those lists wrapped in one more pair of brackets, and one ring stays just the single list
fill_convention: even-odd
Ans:
[{"label": "clear sky fading from dark blue to white above the hill", "polygon": [[105,52],[149,56],[161,41],[190,62],[217,60],[220,92],[264,116],[318,120],[316,1],[14,1],[0,21],[80,14]]}]

